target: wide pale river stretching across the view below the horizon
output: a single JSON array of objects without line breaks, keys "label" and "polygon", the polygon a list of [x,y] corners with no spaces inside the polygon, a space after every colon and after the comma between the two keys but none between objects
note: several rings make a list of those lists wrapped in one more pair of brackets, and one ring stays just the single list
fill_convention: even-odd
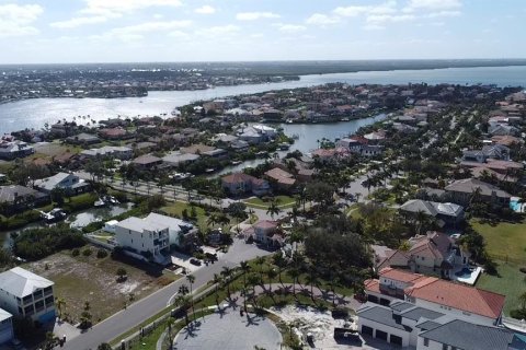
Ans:
[{"label": "wide pale river stretching across the view below the horizon", "polygon": [[[94,120],[108,117],[162,115],[174,107],[199,100],[252,94],[270,90],[295,89],[331,82],[350,84],[377,83],[403,84],[426,82],[428,84],[496,84],[500,86],[526,86],[526,66],[490,68],[450,68],[435,70],[370,71],[338,73],[323,75],[304,75],[299,81],[219,86],[199,91],[150,92],[147,97],[136,98],[38,98],[0,105],[0,133],[23,128],[42,128],[45,122],[53,124],[59,119],[71,120],[77,116],[90,115]],[[329,137],[330,136],[325,136]],[[316,140],[315,140],[316,141]]]}]

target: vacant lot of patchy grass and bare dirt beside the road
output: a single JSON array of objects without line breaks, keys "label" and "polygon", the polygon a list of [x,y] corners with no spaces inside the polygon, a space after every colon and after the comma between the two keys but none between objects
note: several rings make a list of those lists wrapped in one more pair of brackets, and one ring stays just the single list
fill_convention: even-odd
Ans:
[{"label": "vacant lot of patchy grass and bare dirt beside the road", "polygon": [[[85,249],[85,248],[83,248]],[[118,261],[110,256],[96,258],[95,247],[89,257],[72,257],[68,250],[57,253],[26,266],[28,270],[55,282],[55,296],[66,301],[64,314],[70,323],[79,322],[84,302],[90,302],[93,322],[100,322],[135,301],[145,298],[178,279],[135,260]],[[82,249],[81,249],[82,250]],[[123,267],[128,273],[125,282],[116,281],[116,271]]]}]

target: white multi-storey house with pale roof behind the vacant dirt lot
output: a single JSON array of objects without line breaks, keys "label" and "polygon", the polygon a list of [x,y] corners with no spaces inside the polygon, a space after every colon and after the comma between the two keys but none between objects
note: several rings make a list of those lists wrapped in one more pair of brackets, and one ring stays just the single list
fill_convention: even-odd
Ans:
[{"label": "white multi-storey house with pale roof behind the vacant dirt lot", "polygon": [[115,241],[136,257],[164,264],[170,250],[169,226],[130,217],[115,225]]}]

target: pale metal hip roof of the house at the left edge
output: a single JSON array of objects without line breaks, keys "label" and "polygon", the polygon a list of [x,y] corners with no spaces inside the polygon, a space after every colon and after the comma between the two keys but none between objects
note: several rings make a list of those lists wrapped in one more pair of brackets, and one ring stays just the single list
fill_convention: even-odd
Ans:
[{"label": "pale metal hip roof of the house at the left edge", "polygon": [[0,289],[19,298],[31,295],[38,289],[44,289],[54,284],[55,283],[48,279],[20,267],[0,273]]}]

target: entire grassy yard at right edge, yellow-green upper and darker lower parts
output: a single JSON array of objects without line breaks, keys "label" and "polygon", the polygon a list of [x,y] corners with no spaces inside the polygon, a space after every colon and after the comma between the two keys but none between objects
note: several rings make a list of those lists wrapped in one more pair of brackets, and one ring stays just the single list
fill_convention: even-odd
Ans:
[{"label": "entire grassy yard at right edge, yellow-green upper and darker lower parts", "polygon": [[496,225],[472,221],[471,225],[485,241],[488,254],[498,264],[498,276],[482,273],[477,287],[506,295],[504,314],[519,305],[518,296],[526,292],[526,224],[501,222]]}]

